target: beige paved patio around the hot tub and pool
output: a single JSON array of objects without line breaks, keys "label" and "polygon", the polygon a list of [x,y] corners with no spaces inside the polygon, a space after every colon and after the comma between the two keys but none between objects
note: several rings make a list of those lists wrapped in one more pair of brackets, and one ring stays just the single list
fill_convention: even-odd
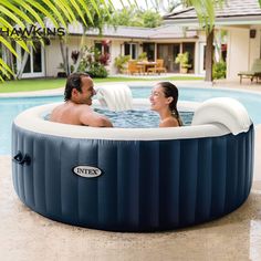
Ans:
[{"label": "beige paved patio around the hot tub and pool", "polygon": [[[215,86],[261,91],[261,84]],[[251,194],[234,212],[182,230],[118,233],[77,228],[27,208],[11,180],[11,158],[0,157],[1,260],[261,260],[261,125],[255,127]]]}]

